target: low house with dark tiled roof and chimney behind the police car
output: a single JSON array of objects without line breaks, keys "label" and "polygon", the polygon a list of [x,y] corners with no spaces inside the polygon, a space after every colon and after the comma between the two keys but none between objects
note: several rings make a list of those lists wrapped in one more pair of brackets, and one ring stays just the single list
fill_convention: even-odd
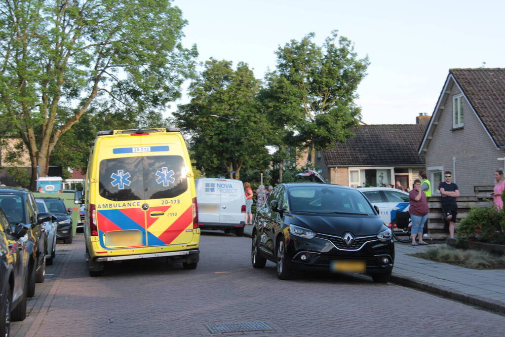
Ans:
[{"label": "low house with dark tiled roof and chimney behind the police car", "polygon": [[417,124],[360,125],[344,143],[318,152],[316,166],[332,184],[351,187],[394,184],[411,189],[425,169],[424,154],[418,153],[430,117],[420,115]]}]

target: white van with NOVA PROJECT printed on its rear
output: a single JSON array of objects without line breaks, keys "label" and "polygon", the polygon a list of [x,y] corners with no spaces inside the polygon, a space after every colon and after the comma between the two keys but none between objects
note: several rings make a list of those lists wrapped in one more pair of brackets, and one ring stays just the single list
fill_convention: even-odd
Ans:
[{"label": "white van with NOVA PROJECT printed on its rear", "polygon": [[245,193],[240,180],[195,179],[198,224],[203,230],[234,231],[244,235]]}]

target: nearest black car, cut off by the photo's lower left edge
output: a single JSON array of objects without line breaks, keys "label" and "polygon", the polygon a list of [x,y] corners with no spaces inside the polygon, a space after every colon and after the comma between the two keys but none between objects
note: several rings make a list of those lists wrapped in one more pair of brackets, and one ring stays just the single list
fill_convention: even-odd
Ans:
[{"label": "nearest black car, cut off by the photo's lower left edge", "polygon": [[0,209],[0,335],[8,336],[11,321],[26,317],[28,292],[28,253],[21,240],[28,228],[22,223],[11,227]]}]

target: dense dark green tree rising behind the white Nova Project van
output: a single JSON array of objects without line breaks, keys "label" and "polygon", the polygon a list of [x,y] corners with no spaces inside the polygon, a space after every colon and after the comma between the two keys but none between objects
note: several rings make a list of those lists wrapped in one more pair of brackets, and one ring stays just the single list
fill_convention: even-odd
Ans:
[{"label": "dense dark green tree rising behind the white Nova Project van", "polygon": [[205,70],[191,83],[191,101],[179,105],[174,117],[176,124],[191,135],[196,166],[207,176],[232,171],[234,152],[236,179],[240,179],[242,167],[261,170],[268,166],[266,138],[270,127],[259,109],[258,91],[259,80],[246,64],[238,63],[233,70],[232,62],[224,60],[207,61]]}]

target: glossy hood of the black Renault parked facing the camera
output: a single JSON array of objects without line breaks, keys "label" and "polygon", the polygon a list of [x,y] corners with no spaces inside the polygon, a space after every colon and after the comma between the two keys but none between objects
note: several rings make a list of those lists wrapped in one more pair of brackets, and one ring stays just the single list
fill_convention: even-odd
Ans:
[{"label": "glossy hood of the black Renault parked facing the camera", "polygon": [[384,223],[378,215],[351,214],[286,214],[289,223],[305,227],[316,233],[343,235],[350,232],[355,236],[376,235]]}]

